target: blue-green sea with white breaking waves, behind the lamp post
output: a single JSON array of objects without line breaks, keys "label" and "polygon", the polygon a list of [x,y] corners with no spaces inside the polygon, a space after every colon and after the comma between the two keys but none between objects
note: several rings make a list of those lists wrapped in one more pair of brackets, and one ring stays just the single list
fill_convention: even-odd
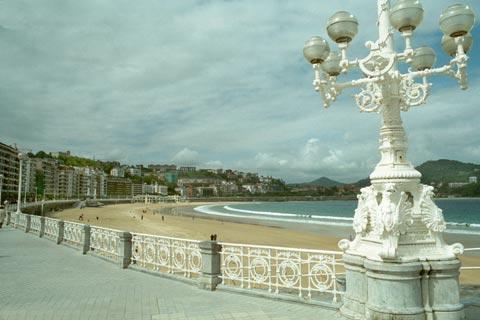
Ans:
[{"label": "blue-green sea with white breaking waves, behind the lamp post", "polygon": [[[443,210],[446,232],[480,235],[480,199],[437,199],[435,203]],[[348,227],[356,207],[356,200],[332,200],[211,204],[195,210],[216,216]]]}]

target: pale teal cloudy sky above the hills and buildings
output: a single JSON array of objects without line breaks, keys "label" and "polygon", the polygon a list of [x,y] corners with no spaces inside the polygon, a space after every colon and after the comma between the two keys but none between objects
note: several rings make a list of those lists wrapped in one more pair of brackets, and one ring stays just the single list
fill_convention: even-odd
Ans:
[{"label": "pale teal cloudy sky above the hills and buildings", "polygon": [[[452,1],[423,0],[415,31],[437,66],[449,61],[438,18]],[[467,3],[480,14],[478,0]],[[323,109],[302,54],[311,36],[328,39],[338,10],[359,21],[349,57],[366,56],[374,0],[0,0],[0,141],[287,182],[365,178],[379,160],[380,116],[359,112],[358,90]],[[480,39],[478,26],[472,34]],[[413,164],[480,163],[479,52],[474,43],[468,91],[432,78],[428,103],[403,113]]]}]

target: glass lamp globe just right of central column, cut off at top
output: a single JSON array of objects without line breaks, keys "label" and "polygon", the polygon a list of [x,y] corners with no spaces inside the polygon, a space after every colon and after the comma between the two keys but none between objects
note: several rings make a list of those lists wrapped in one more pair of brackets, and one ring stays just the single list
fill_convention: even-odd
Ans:
[{"label": "glass lamp globe just right of central column, cut off at top", "polygon": [[390,22],[400,32],[415,30],[423,20],[423,7],[419,0],[398,0],[390,9]]}]

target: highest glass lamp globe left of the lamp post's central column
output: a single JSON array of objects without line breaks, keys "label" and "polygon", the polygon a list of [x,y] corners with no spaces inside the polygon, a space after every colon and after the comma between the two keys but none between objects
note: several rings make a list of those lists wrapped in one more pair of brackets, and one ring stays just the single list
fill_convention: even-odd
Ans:
[{"label": "highest glass lamp globe left of the lamp post's central column", "polygon": [[346,11],[339,11],[328,19],[327,32],[336,43],[348,43],[358,33],[357,18]]}]

